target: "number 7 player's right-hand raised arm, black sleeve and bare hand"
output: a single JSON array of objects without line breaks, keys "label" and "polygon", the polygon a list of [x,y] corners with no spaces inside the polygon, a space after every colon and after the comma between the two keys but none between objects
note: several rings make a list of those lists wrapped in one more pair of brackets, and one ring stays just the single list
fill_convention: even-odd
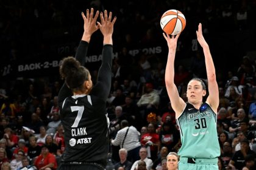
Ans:
[{"label": "number 7 player's right-hand raised arm, black sleeve and bare hand", "polygon": [[103,35],[103,51],[102,51],[102,64],[99,68],[97,84],[91,91],[92,94],[101,97],[103,100],[107,100],[111,87],[112,79],[112,58],[113,58],[113,29],[116,21],[116,17],[112,20],[112,12],[104,14],[101,12],[101,23],[97,22],[99,29]]}]

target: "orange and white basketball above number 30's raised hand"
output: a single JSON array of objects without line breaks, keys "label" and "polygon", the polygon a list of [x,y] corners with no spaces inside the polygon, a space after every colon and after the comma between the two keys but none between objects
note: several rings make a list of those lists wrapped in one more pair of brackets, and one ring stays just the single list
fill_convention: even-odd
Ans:
[{"label": "orange and white basketball above number 30's raised hand", "polygon": [[177,35],[185,29],[186,19],[179,10],[168,10],[163,13],[160,25],[165,33]]}]

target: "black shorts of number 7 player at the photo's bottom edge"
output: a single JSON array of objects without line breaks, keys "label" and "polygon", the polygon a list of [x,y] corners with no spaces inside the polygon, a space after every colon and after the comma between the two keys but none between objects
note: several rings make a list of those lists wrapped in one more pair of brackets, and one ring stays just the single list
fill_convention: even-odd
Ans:
[{"label": "black shorts of number 7 player at the photo's bottom edge", "polygon": [[60,163],[57,170],[105,170],[105,168],[102,165],[99,165],[98,163]]}]

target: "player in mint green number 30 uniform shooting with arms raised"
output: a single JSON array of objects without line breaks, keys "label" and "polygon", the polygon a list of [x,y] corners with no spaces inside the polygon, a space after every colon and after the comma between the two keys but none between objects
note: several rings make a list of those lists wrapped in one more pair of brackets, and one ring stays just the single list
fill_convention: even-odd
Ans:
[{"label": "player in mint green number 30 uniform shooting with arms raised", "polygon": [[219,105],[218,84],[212,55],[202,35],[202,24],[198,25],[196,35],[205,56],[208,79],[207,100],[204,103],[203,97],[207,94],[207,86],[200,78],[193,78],[188,82],[187,103],[179,97],[177,87],[174,84],[174,59],[179,35],[169,36],[163,33],[169,48],[165,83],[172,109],[176,113],[177,124],[180,127],[182,146],[178,152],[180,155],[179,170],[217,170],[220,155],[216,130],[216,113]]}]

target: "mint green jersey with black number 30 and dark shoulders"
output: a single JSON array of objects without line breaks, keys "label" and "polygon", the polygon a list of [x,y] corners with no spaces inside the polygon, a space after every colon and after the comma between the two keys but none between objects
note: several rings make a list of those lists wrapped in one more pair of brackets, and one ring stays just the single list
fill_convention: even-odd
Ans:
[{"label": "mint green jersey with black number 30 and dark shoulders", "polygon": [[217,115],[207,103],[199,110],[187,103],[180,117],[182,146],[178,152],[180,157],[216,158],[220,155],[218,134],[216,129]]}]

